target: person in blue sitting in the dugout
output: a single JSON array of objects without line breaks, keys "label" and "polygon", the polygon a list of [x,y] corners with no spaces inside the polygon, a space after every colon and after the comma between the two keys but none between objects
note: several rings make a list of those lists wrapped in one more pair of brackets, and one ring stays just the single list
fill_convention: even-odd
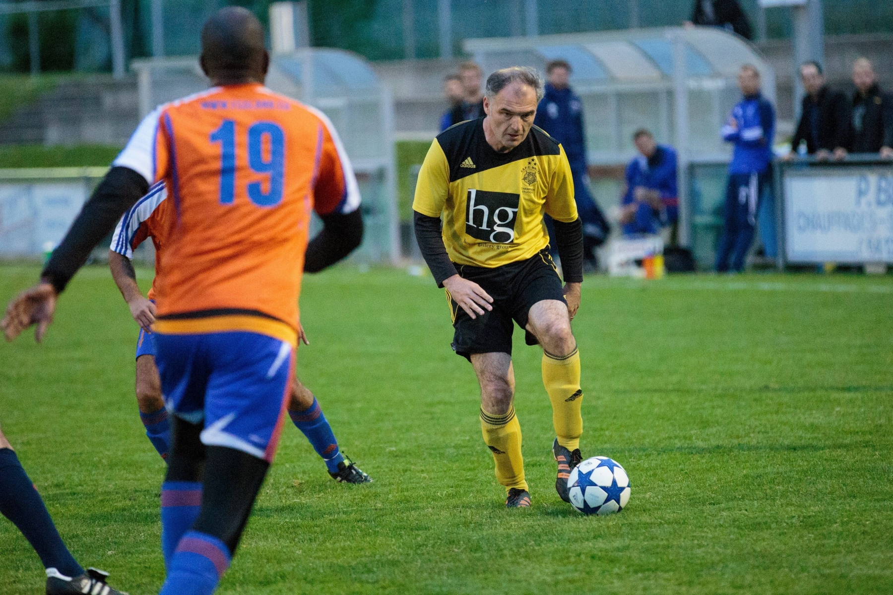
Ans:
[{"label": "person in blue sitting in the dugout", "polygon": [[626,235],[656,234],[661,227],[675,226],[679,216],[676,151],[658,145],[644,128],[636,131],[632,141],[639,154],[626,167],[620,222]]}]

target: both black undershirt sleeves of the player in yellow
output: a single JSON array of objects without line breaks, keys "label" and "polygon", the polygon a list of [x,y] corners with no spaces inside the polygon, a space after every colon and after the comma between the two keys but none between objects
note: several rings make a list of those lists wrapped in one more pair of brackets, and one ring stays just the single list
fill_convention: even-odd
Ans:
[{"label": "both black undershirt sleeves of the player in yellow", "polygon": [[[419,243],[421,256],[428,264],[431,275],[438,287],[456,274],[455,265],[447,255],[447,247],[440,235],[440,219],[428,217],[413,211],[415,239]],[[564,283],[582,283],[583,281],[583,223],[580,218],[571,223],[555,221],[555,247],[561,257],[564,272]]]}]

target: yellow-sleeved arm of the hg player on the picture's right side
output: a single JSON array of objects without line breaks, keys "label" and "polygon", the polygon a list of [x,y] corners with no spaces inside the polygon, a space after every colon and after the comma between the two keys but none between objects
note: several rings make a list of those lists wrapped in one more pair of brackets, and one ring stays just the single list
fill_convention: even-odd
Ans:
[{"label": "yellow-sleeved arm of the hg player on the picture's right side", "polygon": [[580,309],[580,284],[583,282],[583,223],[577,214],[571,166],[563,148],[549,183],[546,212],[555,219],[555,248],[561,258],[564,299],[573,318]]}]

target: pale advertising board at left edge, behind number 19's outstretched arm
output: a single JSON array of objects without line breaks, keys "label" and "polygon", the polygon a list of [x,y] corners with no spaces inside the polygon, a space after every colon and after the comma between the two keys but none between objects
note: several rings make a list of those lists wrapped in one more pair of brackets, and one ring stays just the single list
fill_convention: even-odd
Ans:
[{"label": "pale advertising board at left edge, behind number 19's outstretched arm", "polygon": [[54,248],[80,207],[88,182],[0,183],[0,255],[32,256]]}]

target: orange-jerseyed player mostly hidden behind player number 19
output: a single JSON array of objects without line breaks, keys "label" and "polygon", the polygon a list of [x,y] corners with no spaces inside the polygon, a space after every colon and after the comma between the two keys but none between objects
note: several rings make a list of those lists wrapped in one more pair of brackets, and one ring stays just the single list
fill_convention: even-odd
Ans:
[{"label": "orange-jerseyed player mostly hidden behind player number 19", "polygon": [[[109,246],[109,268],[115,285],[121,290],[124,301],[128,303],[130,314],[140,326],[137,338],[137,403],[139,417],[146,426],[149,442],[158,450],[163,459],[167,459],[171,450],[170,415],[164,408],[161,379],[155,366],[155,348],[152,338],[152,325],[155,321],[154,288],[144,296],[137,285],[137,274],[130,260],[133,251],[146,240],[151,240],[155,249],[155,262],[163,260],[164,246],[167,239],[165,230],[169,229],[169,220],[175,216],[170,194],[163,182],[149,188],[149,192],[124,213],[124,217],[115,227],[112,244]],[[311,260],[305,260],[304,271],[315,273],[326,262],[313,260],[313,241],[309,244],[308,253]],[[299,340],[307,345],[309,341],[299,328]],[[328,419],[322,413],[316,397],[295,376],[288,399],[288,417],[310,441],[313,450],[325,462],[329,475],[341,483],[369,483],[371,477],[357,467],[353,461],[338,448],[335,433]]]}]

